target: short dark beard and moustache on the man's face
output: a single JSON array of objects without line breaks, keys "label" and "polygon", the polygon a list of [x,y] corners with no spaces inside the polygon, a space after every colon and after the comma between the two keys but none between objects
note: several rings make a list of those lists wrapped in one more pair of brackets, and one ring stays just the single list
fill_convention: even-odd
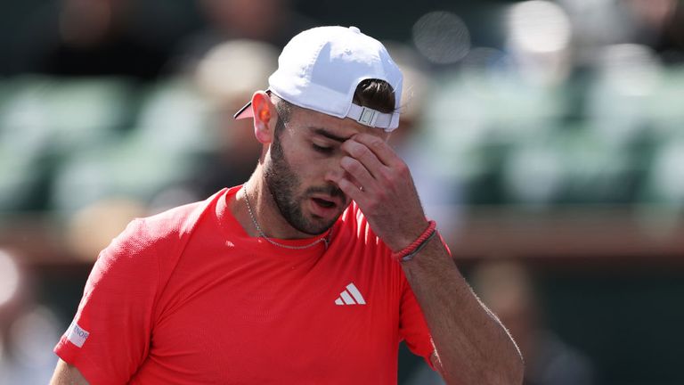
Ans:
[{"label": "short dark beard and moustache on the man's face", "polygon": [[[326,232],[335,224],[339,215],[330,220],[323,220],[322,218],[315,220],[315,218],[305,217],[302,206],[308,199],[307,197],[314,193],[324,193],[331,197],[339,197],[343,203],[346,203],[345,193],[337,186],[329,184],[320,187],[310,187],[301,195],[297,195],[301,181],[285,159],[285,153],[282,150],[278,133],[274,136],[271,145],[271,161],[265,162],[264,177],[275,205],[280,210],[281,216],[297,231],[312,235]],[[346,204],[343,204],[343,207],[346,207]]]}]

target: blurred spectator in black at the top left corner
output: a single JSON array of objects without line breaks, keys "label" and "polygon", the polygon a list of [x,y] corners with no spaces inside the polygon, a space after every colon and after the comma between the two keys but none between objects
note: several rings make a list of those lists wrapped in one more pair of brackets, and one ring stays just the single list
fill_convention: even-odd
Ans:
[{"label": "blurred spectator in black at the top left corner", "polygon": [[20,33],[17,72],[156,78],[167,53],[130,28],[128,0],[61,0],[39,8]]}]

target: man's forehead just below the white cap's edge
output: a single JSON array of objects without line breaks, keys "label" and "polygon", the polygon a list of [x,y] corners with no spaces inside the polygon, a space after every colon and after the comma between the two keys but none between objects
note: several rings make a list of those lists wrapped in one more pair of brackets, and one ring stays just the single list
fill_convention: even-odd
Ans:
[{"label": "man's forehead just below the white cap's edge", "polygon": [[343,138],[348,138],[355,134],[370,134],[378,136],[383,140],[387,140],[389,137],[389,134],[382,128],[368,127],[354,119],[340,119],[322,112],[312,111],[301,107],[293,109],[292,115],[290,116],[290,123],[294,123],[297,127],[308,128],[308,131],[324,129],[332,135]]}]

